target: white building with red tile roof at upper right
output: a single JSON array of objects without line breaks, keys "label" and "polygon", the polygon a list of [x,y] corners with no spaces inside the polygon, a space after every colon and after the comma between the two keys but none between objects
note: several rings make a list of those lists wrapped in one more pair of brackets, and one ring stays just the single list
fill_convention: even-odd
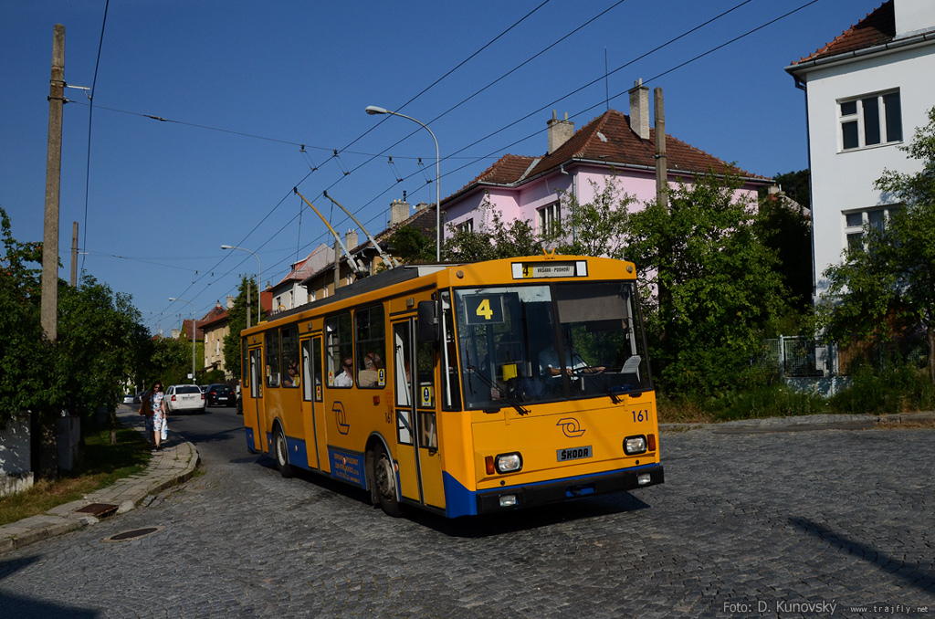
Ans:
[{"label": "white building with red tile roof at upper right", "polygon": [[785,70],[806,95],[817,299],[844,248],[899,208],[873,182],[921,170],[898,147],[935,106],[935,2],[888,0]]}]

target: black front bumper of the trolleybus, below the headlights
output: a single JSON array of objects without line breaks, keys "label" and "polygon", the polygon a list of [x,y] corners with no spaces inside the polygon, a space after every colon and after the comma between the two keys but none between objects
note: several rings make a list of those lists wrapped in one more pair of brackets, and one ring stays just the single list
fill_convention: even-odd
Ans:
[{"label": "black front bumper of the trolleybus, below the headlights", "polygon": [[496,490],[477,493],[476,513],[495,513],[535,505],[559,503],[574,498],[635,490],[662,482],[665,482],[662,465],[651,464],[556,482],[505,486]]}]

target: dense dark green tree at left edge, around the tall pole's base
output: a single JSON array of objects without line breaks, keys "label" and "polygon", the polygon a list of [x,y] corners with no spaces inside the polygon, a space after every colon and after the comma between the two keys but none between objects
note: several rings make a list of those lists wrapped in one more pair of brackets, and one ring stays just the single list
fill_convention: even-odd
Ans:
[{"label": "dense dark green tree at left edge, around the tall pole's base", "polygon": [[113,427],[117,398],[137,373],[145,330],[129,296],[85,277],[77,289],[58,282],[58,338],[47,340],[39,321],[41,269],[30,266],[41,265],[41,244],[13,239],[3,209],[0,232],[0,424],[31,410],[36,473],[54,477],[56,418],[63,410],[87,415],[107,405]]}]

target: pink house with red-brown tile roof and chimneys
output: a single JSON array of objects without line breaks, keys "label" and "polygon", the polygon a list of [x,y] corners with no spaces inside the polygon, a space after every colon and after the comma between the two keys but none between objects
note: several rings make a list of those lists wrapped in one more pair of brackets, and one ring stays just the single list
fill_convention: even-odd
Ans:
[{"label": "pink house with red-brown tile roof and chimneys", "polygon": [[[609,109],[576,132],[568,118],[560,120],[553,113],[548,122],[549,151],[537,157],[501,157],[442,201],[446,222],[480,228],[479,208],[487,198],[505,221],[529,221],[542,234],[563,216],[560,194],[571,194],[579,204],[587,204],[595,196],[591,181],[597,183],[599,192],[610,178],[637,198],[634,208],[641,208],[655,199],[655,129],[649,125],[649,111],[649,89],[639,85],[630,91],[629,116]],[[666,136],[666,154],[669,186],[679,179],[691,182],[695,173],[709,170],[729,170],[741,177],[744,184],[738,194],[755,197],[757,189],[772,184],[675,137]]]}]

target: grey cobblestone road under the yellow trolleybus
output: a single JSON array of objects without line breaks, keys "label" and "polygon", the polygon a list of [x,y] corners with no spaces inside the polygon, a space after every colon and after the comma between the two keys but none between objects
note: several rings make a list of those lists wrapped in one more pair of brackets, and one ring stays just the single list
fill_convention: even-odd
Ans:
[{"label": "grey cobblestone road under the yellow trolleybus", "polygon": [[922,617],[933,442],[669,433],[664,485],[453,522],[202,443],[207,473],[151,506],[4,555],[0,617]]}]

